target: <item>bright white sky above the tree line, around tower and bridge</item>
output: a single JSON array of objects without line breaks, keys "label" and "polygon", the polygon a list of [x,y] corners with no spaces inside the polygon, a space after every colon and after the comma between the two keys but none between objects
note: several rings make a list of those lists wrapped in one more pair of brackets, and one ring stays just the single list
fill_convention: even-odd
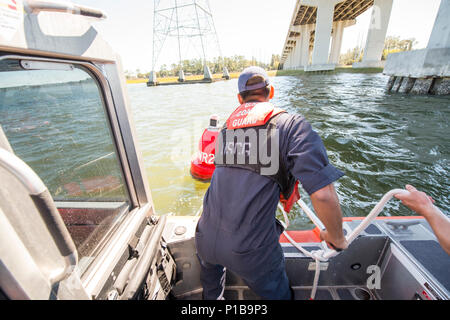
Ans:
[{"label": "bright white sky above the tree line, around tower and bridge", "polygon": [[[272,54],[281,54],[296,1],[209,0],[222,54],[249,59],[254,56],[267,62]],[[106,12],[108,18],[94,24],[120,54],[125,70],[152,69],[153,0],[73,2]],[[418,42],[415,49],[426,47],[439,4],[440,0],[394,0],[387,36],[415,38]],[[354,26],[345,29],[341,53],[364,45],[370,13],[371,9],[359,16]],[[165,50],[167,53],[159,60],[176,62],[177,55],[171,54],[177,49]]]}]

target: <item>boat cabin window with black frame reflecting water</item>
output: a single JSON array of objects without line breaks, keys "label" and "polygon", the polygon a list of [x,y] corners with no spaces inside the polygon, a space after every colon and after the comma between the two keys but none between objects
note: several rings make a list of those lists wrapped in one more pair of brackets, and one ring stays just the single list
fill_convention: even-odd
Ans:
[{"label": "boat cabin window with black frame reflecting water", "polygon": [[130,206],[97,81],[76,65],[0,60],[0,125],[46,184],[86,267]]}]

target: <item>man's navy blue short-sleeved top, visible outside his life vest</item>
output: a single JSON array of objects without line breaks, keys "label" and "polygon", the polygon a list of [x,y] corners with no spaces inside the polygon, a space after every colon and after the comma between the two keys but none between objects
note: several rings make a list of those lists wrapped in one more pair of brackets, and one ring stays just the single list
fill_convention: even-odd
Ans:
[{"label": "man's navy blue short-sleeved top, visible outside his life vest", "polygon": [[[329,163],[322,139],[303,117],[284,113],[277,129],[282,161],[308,194],[344,175]],[[236,269],[245,266],[233,263],[246,253],[255,252],[255,264],[264,262],[266,251],[282,255],[278,245],[281,230],[275,218],[279,197],[279,186],[267,177],[245,169],[216,168],[197,226],[199,256],[239,273]],[[254,270],[258,270],[256,265]]]}]

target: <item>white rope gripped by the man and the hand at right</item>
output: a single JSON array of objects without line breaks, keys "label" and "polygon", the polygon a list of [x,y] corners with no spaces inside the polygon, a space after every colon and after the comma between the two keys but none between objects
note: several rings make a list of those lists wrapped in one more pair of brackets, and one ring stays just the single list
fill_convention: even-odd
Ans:
[{"label": "white rope gripped by the man and the hand at right", "polygon": [[[377,205],[370,211],[370,213],[367,215],[366,218],[346,237],[346,240],[348,242],[348,245],[350,245],[353,240],[355,240],[361,232],[363,232],[372,222],[375,220],[375,218],[381,213],[386,203],[392,199],[392,197],[396,194],[409,194],[408,191],[402,190],[402,189],[394,189],[386,193],[380,200],[380,202],[377,203]],[[319,230],[324,230],[325,227],[320,221],[320,219],[314,214],[314,212],[303,202],[303,200],[299,200],[297,204],[303,209],[303,211],[308,215],[308,217],[311,219],[311,221],[314,223],[314,225],[319,228]],[[285,231],[283,232],[284,236],[288,239],[288,241],[296,247],[300,252],[302,252],[305,256],[310,257],[315,260],[316,262],[316,268],[315,268],[315,274],[314,274],[314,282],[313,282],[313,288],[311,291],[311,300],[314,300],[317,292],[317,287],[319,284],[319,276],[320,276],[320,262],[328,261],[330,258],[336,256],[339,254],[336,250],[329,249],[325,241],[322,241],[322,249],[315,250],[309,252],[308,250],[304,249],[300,244],[294,241],[288,233],[286,232],[287,226],[289,226],[289,219],[287,217],[286,212],[283,210],[283,207],[281,205],[278,205],[281,212],[283,213],[285,222],[281,222],[284,226]]]}]

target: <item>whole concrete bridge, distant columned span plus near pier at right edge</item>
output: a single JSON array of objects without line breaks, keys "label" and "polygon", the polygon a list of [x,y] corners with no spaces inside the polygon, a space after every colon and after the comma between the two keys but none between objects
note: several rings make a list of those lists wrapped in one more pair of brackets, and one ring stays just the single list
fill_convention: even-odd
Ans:
[{"label": "whole concrete bridge, distant columned span plus near pier at right edge", "polygon": [[[383,67],[381,57],[393,0],[298,0],[284,43],[284,70],[334,70],[344,28],[373,7],[361,62],[353,68]],[[425,49],[390,54],[383,73],[390,92],[450,94],[450,0],[441,0]],[[331,43],[331,48],[330,48]]]}]

